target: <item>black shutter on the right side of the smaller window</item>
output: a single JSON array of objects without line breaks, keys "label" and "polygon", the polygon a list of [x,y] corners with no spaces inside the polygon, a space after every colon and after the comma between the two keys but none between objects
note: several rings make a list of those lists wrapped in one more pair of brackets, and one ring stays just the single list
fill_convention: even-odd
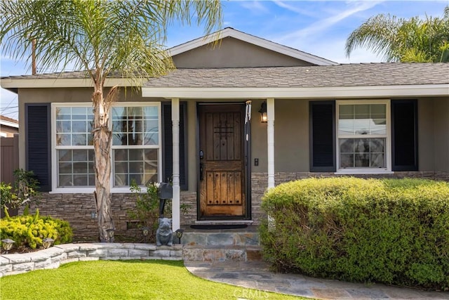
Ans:
[{"label": "black shutter on the right side of the smaller window", "polygon": [[418,171],[417,100],[391,100],[393,171]]}]

